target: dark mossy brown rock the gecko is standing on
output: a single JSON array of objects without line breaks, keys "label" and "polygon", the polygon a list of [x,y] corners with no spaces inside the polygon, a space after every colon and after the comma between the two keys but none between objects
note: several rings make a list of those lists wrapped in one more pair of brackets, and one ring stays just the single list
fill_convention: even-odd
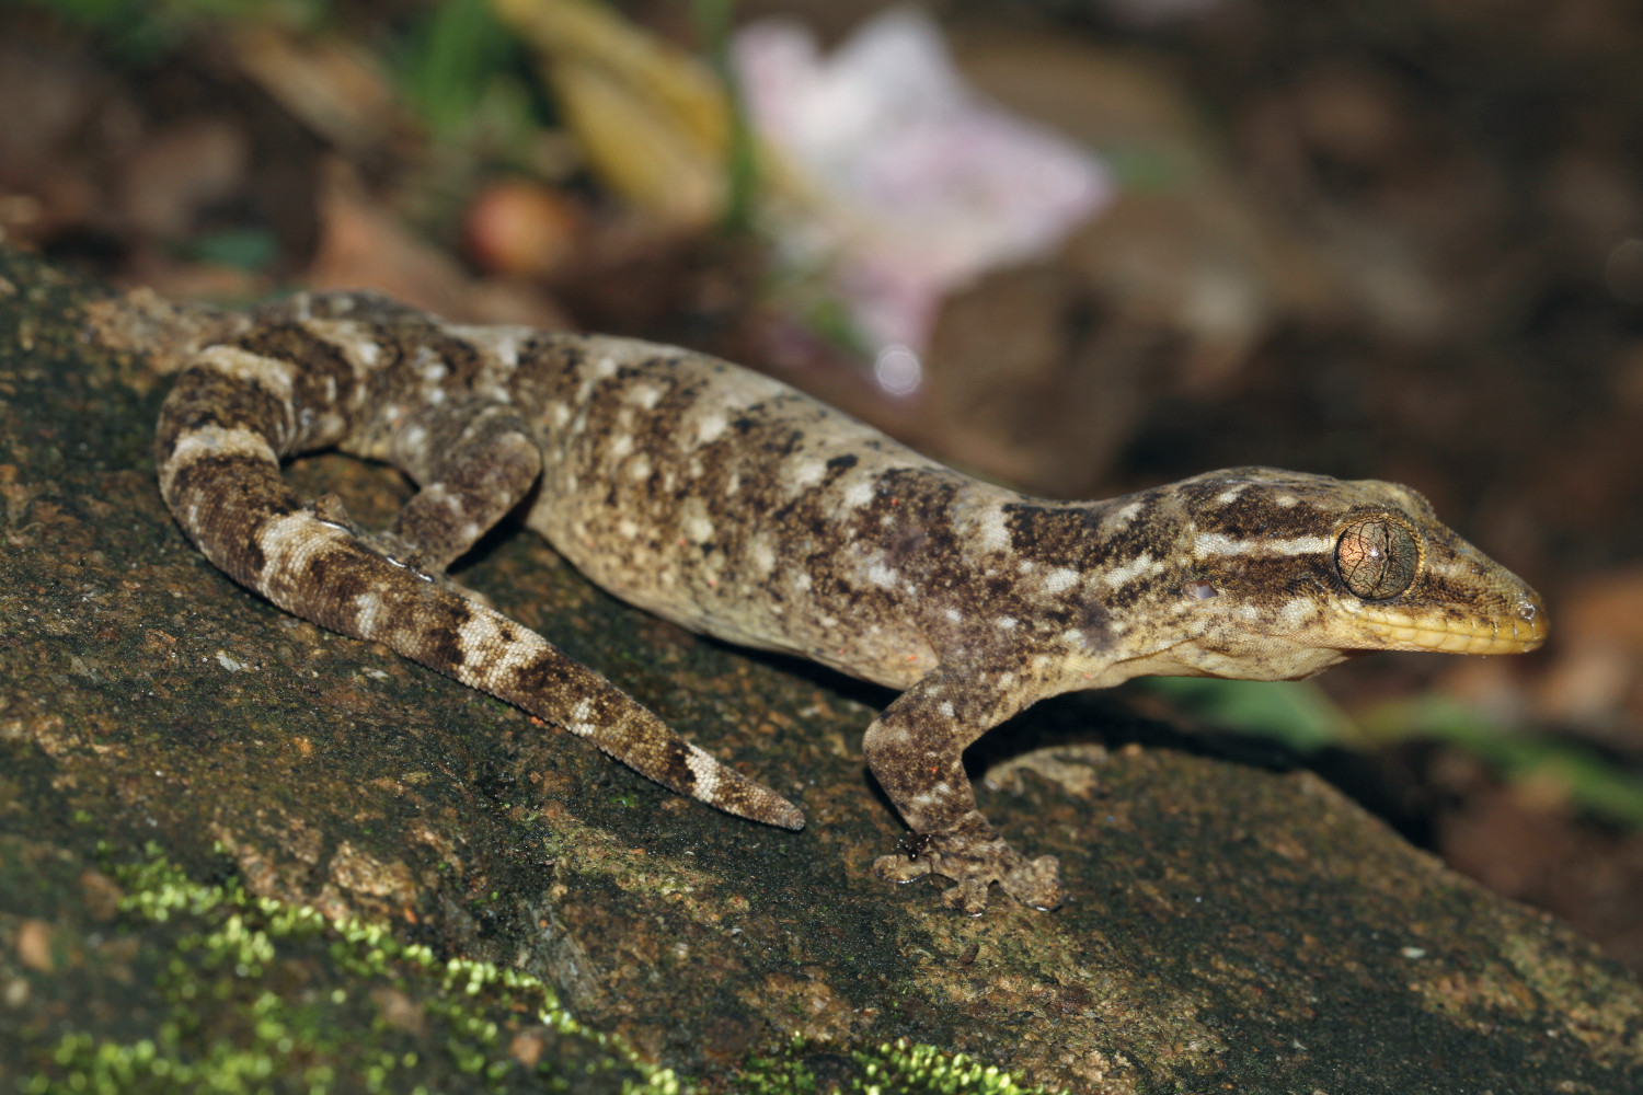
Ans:
[{"label": "dark mossy brown rock the gecko is standing on", "polygon": [[[171,522],[150,455],[168,379],[87,337],[99,296],[0,250],[0,1088],[99,1052],[242,1067],[222,1047],[256,1042],[269,1090],[350,1090],[361,1046],[389,1090],[675,1082],[654,1065],[830,1090],[869,1057],[876,1082],[902,1069],[886,1090],[927,1090],[923,1051],[877,1049],[905,1039],[1102,1095],[1643,1090],[1643,988],[1592,946],[1311,773],[1198,755],[1101,698],[983,742],[983,809],[1060,857],[1068,903],[968,919],[868,872],[900,836],[859,749],[886,694],[631,611],[529,534],[488,538],[462,581],[798,801],[803,832],[284,616]],[[363,520],[406,494],[340,456],[291,476]],[[207,962],[255,924],[253,959]],[[447,969],[490,1018],[417,980]],[[324,1038],[246,1019],[327,1001]],[[600,1064],[593,1033],[619,1052]]]}]

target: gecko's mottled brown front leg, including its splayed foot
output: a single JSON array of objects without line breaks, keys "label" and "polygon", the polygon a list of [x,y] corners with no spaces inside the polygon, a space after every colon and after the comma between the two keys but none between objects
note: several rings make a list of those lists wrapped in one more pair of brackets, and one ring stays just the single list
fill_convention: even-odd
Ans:
[{"label": "gecko's mottled brown front leg, including its splayed foot", "polygon": [[1053,855],[1029,860],[976,809],[963,752],[1025,706],[997,673],[938,670],[904,691],[863,739],[868,767],[917,834],[910,854],[881,855],[872,873],[886,882],[941,875],[958,885],[941,900],[971,916],[987,906],[987,887],[1024,905],[1061,905]]}]

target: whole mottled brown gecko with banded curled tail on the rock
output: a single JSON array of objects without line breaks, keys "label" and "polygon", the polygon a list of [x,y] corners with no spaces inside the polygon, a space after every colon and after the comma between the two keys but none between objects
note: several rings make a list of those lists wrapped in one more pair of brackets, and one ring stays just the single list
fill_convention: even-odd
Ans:
[{"label": "whole mottled brown gecko with banded curled tail on the rock", "polygon": [[[614,596],[693,632],[899,691],[866,767],[914,834],[887,882],[946,906],[1063,901],[981,814],[963,752],[1030,704],[1142,675],[1295,680],[1364,650],[1516,653],[1541,598],[1413,489],[1232,468],[1063,502],[955,471],[702,353],[447,323],[365,292],[233,314],[164,401],[159,489],[233,580],[590,740],[662,786],[800,829],[769,786],[445,573],[506,514]],[[360,527],[281,479],[335,448],[399,468]]]}]

